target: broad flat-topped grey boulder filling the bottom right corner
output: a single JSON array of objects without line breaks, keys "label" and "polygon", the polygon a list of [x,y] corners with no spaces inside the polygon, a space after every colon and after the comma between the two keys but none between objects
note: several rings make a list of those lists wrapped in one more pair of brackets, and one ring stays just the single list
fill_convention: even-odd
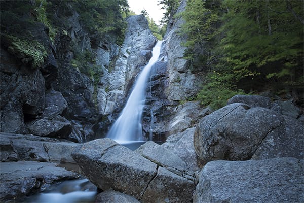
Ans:
[{"label": "broad flat-topped grey boulder filling the bottom right corner", "polygon": [[303,163],[288,157],[208,162],[193,202],[303,202]]}]

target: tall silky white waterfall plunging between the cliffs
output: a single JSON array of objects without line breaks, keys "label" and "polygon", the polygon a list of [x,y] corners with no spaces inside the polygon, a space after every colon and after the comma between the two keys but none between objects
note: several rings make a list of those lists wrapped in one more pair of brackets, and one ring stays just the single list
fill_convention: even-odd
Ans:
[{"label": "tall silky white waterfall plunging between the cliffs", "polygon": [[152,57],[138,76],[134,89],[131,92],[127,104],[122,110],[119,118],[112,125],[107,134],[120,144],[143,141],[141,115],[145,105],[146,83],[152,65],[157,62],[160,55],[162,42],[158,41],[153,48]]}]

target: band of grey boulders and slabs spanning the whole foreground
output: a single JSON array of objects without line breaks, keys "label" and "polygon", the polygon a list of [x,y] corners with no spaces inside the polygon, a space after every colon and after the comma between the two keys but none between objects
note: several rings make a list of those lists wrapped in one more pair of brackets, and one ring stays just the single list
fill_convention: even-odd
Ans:
[{"label": "band of grey boulders and slabs spanning the whole foreground", "polygon": [[0,198],[20,202],[82,176],[99,188],[95,202],[302,202],[301,119],[289,101],[237,95],[162,145],[135,151],[108,138],[1,133]]}]

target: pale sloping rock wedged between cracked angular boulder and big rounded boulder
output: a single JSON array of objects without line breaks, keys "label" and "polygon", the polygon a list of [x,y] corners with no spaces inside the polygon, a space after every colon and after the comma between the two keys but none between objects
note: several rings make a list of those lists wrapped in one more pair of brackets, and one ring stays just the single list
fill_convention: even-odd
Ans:
[{"label": "pale sloping rock wedged between cracked angular boulder and big rounded boulder", "polygon": [[194,131],[195,127],[192,127],[183,132],[172,134],[161,146],[172,150],[187,164],[190,170],[199,171],[200,168],[193,144]]}]

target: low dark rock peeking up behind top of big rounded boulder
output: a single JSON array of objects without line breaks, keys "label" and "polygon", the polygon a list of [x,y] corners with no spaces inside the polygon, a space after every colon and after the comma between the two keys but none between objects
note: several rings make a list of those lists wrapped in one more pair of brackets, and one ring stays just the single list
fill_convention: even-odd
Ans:
[{"label": "low dark rock peeking up behind top of big rounded boulder", "polygon": [[235,95],[227,101],[227,105],[233,103],[244,103],[249,107],[263,107],[269,109],[271,106],[271,99],[259,95]]}]

